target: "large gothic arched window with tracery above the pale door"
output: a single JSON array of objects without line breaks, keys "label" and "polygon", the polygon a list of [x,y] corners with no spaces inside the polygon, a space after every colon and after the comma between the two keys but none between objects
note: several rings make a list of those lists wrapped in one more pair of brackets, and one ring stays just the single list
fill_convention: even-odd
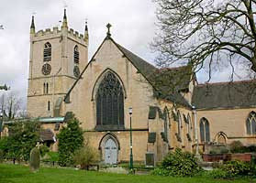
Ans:
[{"label": "large gothic arched window with tracery above the pale door", "polygon": [[96,129],[124,128],[124,93],[117,77],[107,72],[96,94]]}]

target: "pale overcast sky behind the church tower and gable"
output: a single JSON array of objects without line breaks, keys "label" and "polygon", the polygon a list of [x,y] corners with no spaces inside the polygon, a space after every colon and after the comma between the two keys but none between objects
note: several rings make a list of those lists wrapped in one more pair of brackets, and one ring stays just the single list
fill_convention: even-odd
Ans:
[{"label": "pale overcast sky behind the church tower and gable", "polygon": [[[6,83],[25,100],[28,88],[29,27],[35,15],[36,31],[60,26],[67,5],[69,27],[83,33],[89,26],[89,59],[106,37],[106,24],[117,43],[153,63],[150,42],[155,35],[156,5],[151,0],[7,0],[0,6],[0,84]],[[212,81],[228,81],[230,69],[213,74]],[[244,76],[244,70],[237,70]],[[206,81],[206,72],[197,74]],[[2,92],[1,92],[2,93]]]}]

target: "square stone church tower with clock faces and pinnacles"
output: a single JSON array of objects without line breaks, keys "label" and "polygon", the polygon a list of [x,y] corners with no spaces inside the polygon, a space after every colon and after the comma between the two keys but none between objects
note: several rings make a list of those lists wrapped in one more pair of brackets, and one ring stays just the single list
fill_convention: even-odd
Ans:
[{"label": "square stone church tower with clock faces and pinnacles", "polygon": [[61,28],[53,27],[36,32],[32,16],[28,76],[29,116],[63,115],[63,97],[87,64],[88,41],[87,22],[83,34],[69,29],[66,9]]}]

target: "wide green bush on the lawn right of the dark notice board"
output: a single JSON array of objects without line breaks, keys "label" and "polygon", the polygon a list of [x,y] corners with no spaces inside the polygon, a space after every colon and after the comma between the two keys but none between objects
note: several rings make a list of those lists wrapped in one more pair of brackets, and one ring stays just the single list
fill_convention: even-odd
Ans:
[{"label": "wide green bush on the lawn right of the dark notice board", "polygon": [[198,173],[201,168],[197,165],[194,155],[189,152],[183,152],[176,148],[170,152],[161,162],[161,167],[155,169],[152,174],[160,176],[173,177],[192,177]]}]

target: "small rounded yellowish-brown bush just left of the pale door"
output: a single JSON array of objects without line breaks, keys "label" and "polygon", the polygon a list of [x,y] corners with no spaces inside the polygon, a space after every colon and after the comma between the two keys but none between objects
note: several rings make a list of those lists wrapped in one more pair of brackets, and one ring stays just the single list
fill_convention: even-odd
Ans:
[{"label": "small rounded yellowish-brown bush just left of the pale door", "polygon": [[89,166],[99,161],[98,152],[91,146],[85,145],[74,152],[72,159],[81,169],[89,169]]}]

